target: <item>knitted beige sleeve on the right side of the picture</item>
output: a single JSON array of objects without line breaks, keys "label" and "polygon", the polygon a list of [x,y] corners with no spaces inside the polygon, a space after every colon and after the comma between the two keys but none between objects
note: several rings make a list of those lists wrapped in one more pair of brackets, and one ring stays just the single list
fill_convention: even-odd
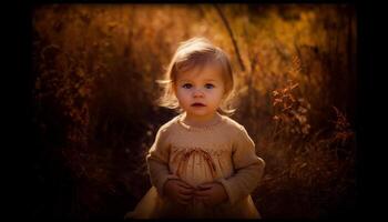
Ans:
[{"label": "knitted beige sleeve on the right side of the picture", "polygon": [[219,179],[233,204],[252,193],[261,181],[265,162],[255,152],[255,143],[244,127],[239,127],[234,138],[232,160],[234,174],[227,179]]}]

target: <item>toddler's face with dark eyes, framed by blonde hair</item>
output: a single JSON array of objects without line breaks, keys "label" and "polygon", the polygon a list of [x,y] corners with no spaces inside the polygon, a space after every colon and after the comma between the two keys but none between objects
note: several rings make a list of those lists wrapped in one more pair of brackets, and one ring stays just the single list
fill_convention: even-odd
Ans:
[{"label": "toddler's face with dark eyes, framed by blonde hair", "polygon": [[194,68],[176,77],[175,95],[187,114],[208,117],[216,112],[224,94],[222,71],[216,65]]}]

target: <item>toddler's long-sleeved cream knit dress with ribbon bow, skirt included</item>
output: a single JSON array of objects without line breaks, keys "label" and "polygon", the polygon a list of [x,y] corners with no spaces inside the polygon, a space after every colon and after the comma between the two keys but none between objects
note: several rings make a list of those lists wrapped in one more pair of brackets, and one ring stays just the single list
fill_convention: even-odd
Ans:
[{"label": "toddler's long-sleeved cream knit dress with ribbon bow, skirt included", "polygon": [[[160,128],[146,157],[150,190],[134,218],[259,218],[249,195],[258,185],[265,162],[245,128],[219,115],[212,125],[197,128],[181,121],[183,114]],[[221,182],[228,201],[213,209],[202,202],[177,205],[163,194],[169,179],[180,178],[196,186]],[[137,211],[137,216],[136,216]]]}]

